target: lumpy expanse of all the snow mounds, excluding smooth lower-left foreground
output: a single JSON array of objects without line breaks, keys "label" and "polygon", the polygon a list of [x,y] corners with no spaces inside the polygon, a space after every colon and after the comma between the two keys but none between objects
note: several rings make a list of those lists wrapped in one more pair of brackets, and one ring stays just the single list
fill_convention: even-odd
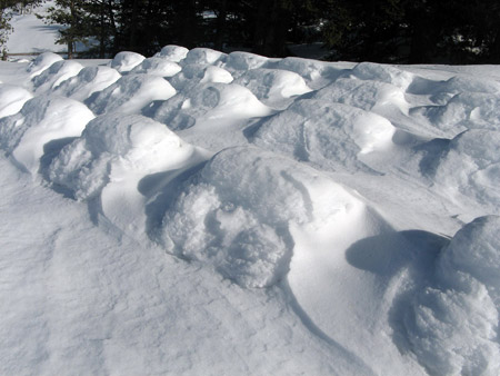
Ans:
[{"label": "lumpy expanse of all the snow mounds, excluding smooth lower-left foreground", "polygon": [[500,372],[497,79],[177,46],[20,76],[10,160],[97,228],[269,294],[334,354],[313,373]]}]

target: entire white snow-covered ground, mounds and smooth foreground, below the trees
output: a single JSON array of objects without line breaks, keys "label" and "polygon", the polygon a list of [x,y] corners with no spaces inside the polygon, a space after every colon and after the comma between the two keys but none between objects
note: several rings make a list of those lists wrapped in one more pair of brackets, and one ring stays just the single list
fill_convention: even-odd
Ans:
[{"label": "entire white snow-covered ground, mounds and smooth foreground, below the trees", "polygon": [[498,375],[500,68],[0,63],[1,374]]}]

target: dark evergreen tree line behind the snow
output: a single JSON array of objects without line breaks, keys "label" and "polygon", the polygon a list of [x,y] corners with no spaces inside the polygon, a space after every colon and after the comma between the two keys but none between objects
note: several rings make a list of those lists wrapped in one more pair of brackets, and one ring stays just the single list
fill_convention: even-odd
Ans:
[{"label": "dark evergreen tree line behind the snow", "polygon": [[[16,2],[16,1],[14,1]],[[17,1],[19,2],[19,1]],[[60,42],[151,56],[164,44],[270,57],[322,43],[330,59],[500,62],[498,0],[57,0]]]}]

